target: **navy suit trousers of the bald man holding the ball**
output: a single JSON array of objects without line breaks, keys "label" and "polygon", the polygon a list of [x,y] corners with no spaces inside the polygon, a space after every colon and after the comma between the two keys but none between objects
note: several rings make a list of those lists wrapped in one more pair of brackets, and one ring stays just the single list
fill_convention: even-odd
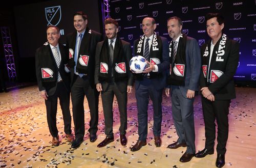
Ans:
[{"label": "navy suit trousers of the bald man holding the ball", "polygon": [[151,79],[144,77],[140,82],[139,87],[136,88],[136,100],[138,108],[138,123],[139,123],[139,140],[146,141],[147,137],[147,106],[148,99],[151,98],[154,108],[154,136],[160,136],[162,123],[162,92],[163,89],[157,90],[152,84]]}]

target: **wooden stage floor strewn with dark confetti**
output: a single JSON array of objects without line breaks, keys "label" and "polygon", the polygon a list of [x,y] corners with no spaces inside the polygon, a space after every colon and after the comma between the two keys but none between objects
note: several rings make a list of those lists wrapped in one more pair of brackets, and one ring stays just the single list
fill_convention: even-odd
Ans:
[{"label": "wooden stage floor strewn with dark confetti", "polygon": [[[231,101],[229,137],[224,167],[256,167],[256,88],[236,88],[237,99]],[[72,107],[72,106],[71,106]],[[46,121],[46,108],[36,86],[0,93],[0,166],[1,167],[215,167],[217,153],[205,158],[192,158],[181,163],[179,158],[186,148],[167,149],[177,140],[172,118],[170,98],[163,96],[162,146],[154,145],[153,107],[148,106],[147,145],[137,152],[130,148],[138,139],[137,107],[134,93],[128,102],[127,146],[119,141],[119,114],[114,102],[115,141],[97,148],[104,138],[104,117],[101,98],[99,104],[99,130],[95,143],[89,141],[89,110],[84,101],[86,135],[81,146],[74,150],[63,132],[63,120],[58,106],[57,126],[61,144],[51,146],[51,135]],[[72,109],[72,108],[71,108]],[[200,96],[194,103],[196,151],[204,148],[204,122]],[[71,110],[72,115],[72,110]],[[73,118],[72,118],[73,120]],[[72,130],[74,124],[72,121]]]}]

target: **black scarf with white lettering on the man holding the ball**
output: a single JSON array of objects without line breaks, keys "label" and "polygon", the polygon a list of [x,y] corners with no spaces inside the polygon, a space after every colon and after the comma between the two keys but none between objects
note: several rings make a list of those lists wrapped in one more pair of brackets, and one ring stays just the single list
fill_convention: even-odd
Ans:
[{"label": "black scarf with white lettering on the man holding the ball", "polygon": [[[144,57],[144,38],[145,35],[141,36],[140,40],[135,44],[135,55],[141,55]],[[162,55],[163,53],[163,43],[160,36],[157,36],[154,32],[153,41],[150,48],[150,63],[151,64],[160,64],[162,62]],[[162,77],[162,73],[158,72],[150,72],[150,78],[159,78]],[[142,80],[143,79],[143,73],[134,73],[134,78],[136,80]]]}]

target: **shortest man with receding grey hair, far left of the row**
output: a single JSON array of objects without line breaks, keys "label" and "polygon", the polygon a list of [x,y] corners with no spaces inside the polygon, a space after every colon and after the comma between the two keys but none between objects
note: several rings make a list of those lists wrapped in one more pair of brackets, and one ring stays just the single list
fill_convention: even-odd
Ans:
[{"label": "shortest man with receding grey hair, far left of the row", "polygon": [[52,135],[52,145],[59,145],[58,129],[56,126],[57,99],[64,120],[64,130],[68,142],[72,143],[74,137],[71,132],[70,115],[70,74],[66,67],[69,50],[58,43],[59,28],[53,25],[47,27],[47,40],[44,46],[38,48],[35,54],[35,67],[38,88],[41,97],[45,99],[47,123]]}]

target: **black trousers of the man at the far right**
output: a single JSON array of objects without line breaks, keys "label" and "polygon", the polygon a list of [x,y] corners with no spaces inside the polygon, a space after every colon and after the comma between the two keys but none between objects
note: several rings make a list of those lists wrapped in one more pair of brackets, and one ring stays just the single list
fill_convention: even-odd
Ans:
[{"label": "black trousers of the man at the far right", "polygon": [[213,149],[215,145],[215,120],[218,125],[217,153],[226,153],[226,144],[228,139],[228,113],[230,100],[209,101],[202,97],[202,107],[205,125],[205,148]]}]

